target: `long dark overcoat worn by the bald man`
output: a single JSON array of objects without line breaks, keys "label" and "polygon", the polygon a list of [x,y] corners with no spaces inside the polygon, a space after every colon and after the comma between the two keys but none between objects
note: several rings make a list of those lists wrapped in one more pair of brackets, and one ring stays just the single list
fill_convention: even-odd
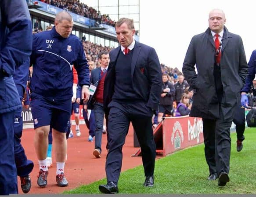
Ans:
[{"label": "long dark overcoat worn by the bald man", "polygon": [[[224,27],[221,47],[220,71],[223,85],[222,102],[218,102],[213,67],[215,63],[215,44],[210,29],[195,35],[187,49],[182,71],[191,86],[196,89],[190,116],[207,119],[219,119],[222,108],[224,118],[231,119],[240,90],[245,83],[248,65],[245,50],[239,35],[228,32]],[[195,64],[198,70],[195,72]]]}]

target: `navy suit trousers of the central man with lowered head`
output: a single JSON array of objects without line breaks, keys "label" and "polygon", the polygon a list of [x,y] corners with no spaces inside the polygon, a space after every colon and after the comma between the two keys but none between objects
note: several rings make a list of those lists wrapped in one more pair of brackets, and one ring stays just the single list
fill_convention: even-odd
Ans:
[{"label": "navy suit trousers of the central man with lowered head", "polygon": [[144,102],[110,102],[108,116],[108,155],[106,161],[107,180],[118,183],[122,167],[125,137],[130,122],[141,146],[144,175],[152,176],[155,169],[155,141],[152,129],[152,110]]}]

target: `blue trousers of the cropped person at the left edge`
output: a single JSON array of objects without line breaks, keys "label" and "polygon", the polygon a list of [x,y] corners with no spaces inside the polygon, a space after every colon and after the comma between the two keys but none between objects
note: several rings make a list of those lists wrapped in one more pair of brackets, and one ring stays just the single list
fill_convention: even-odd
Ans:
[{"label": "blue trousers of the cropped person at the left edge", "polygon": [[13,120],[14,111],[0,114],[0,195],[18,193]]}]

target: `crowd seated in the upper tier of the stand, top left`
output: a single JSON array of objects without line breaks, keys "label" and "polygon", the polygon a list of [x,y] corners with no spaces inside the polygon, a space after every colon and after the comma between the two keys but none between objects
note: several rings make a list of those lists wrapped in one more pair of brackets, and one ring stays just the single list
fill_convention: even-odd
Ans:
[{"label": "crowd seated in the upper tier of the stand, top left", "polygon": [[101,11],[95,10],[86,4],[80,3],[79,0],[40,0],[46,4],[59,7],[65,11],[79,14],[83,17],[93,19],[98,23],[115,26],[115,21],[111,20],[108,14],[101,14]]}]

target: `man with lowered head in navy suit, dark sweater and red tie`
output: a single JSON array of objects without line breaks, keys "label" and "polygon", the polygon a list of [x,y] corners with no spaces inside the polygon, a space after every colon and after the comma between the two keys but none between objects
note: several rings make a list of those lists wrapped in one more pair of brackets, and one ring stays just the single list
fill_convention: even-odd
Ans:
[{"label": "man with lowered head in navy suit, dark sweater and red tie", "polygon": [[108,115],[109,151],[106,161],[107,184],[102,193],[118,192],[122,148],[130,122],[141,146],[144,186],[154,185],[155,141],[151,118],[158,108],[162,75],[158,56],[150,46],[135,42],[133,20],[120,18],[115,31],[121,46],[110,52],[104,85],[104,107]]}]

